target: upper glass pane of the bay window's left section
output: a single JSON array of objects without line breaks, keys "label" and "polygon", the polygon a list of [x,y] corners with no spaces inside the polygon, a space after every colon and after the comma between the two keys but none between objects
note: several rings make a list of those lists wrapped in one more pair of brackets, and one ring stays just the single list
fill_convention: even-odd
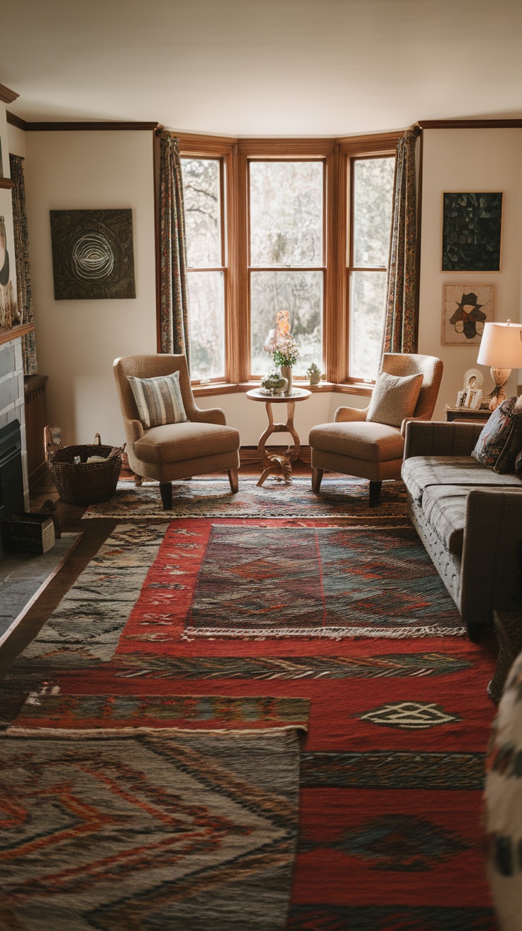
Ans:
[{"label": "upper glass pane of the bay window's left section", "polygon": [[181,175],[188,266],[216,268],[221,265],[220,163],[182,158]]}]

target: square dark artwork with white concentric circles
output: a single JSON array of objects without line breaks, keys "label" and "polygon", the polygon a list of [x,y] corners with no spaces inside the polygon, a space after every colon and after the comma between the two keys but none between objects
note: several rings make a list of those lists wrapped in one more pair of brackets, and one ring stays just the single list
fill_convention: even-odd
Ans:
[{"label": "square dark artwork with white concentric circles", "polygon": [[51,210],[56,301],[135,298],[132,210]]}]

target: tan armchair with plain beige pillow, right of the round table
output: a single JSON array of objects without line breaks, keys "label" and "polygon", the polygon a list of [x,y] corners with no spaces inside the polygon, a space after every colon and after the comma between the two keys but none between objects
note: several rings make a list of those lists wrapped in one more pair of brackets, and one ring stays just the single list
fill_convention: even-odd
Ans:
[{"label": "tan armchair with plain beige pillow, right of the round table", "polygon": [[[422,373],[421,393],[409,420],[431,420],[435,410],[443,365],[435,356],[384,353],[381,371],[390,375]],[[369,506],[379,504],[384,479],[400,479],[407,421],[398,426],[367,421],[364,410],[341,407],[333,424],[321,424],[310,431],[312,449],[312,489],[318,493],[323,472],[342,472],[369,479]]]}]

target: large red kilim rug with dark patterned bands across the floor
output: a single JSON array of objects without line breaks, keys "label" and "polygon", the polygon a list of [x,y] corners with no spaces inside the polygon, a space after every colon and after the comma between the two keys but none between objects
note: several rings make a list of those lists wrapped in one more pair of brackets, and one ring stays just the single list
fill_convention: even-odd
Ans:
[{"label": "large red kilim rug with dark patterned bands across the floor", "polygon": [[329,523],[172,521],[112,659],[53,670],[16,725],[255,729],[309,711],[289,931],[493,931],[494,647],[467,640],[411,531]]}]

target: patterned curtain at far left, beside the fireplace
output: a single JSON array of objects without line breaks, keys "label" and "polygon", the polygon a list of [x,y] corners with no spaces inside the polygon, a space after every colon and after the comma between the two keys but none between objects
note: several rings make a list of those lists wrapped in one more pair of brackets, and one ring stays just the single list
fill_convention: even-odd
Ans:
[{"label": "patterned curtain at far left, beside the fireplace", "polygon": [[[13,199],[13,224],[15,230],[15,262],[17,269],[18,303],[21,310],[21,322],[33,323],[33,291],[31,289],[31,263],[29,261],[29,236],[27,234],[27,208],[25,206],[25,182],[23,180],[23,158],[9,155],[11,166],[11,188]],[[35,375],[36,343],[34,331],[26,333],[21,339],[24,375]]]}]

